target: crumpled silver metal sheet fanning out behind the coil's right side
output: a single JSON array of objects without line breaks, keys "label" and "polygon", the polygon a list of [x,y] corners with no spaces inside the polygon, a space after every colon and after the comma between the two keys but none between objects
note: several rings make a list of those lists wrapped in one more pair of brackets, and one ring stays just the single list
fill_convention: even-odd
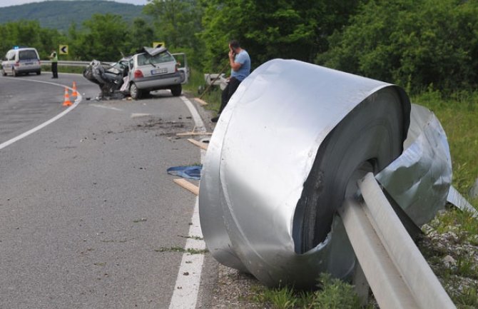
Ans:
[{"label": "crumpled silver metal sheet fanning out behind the coil's right side", "polygon": [[417,226],[444,208],[452,183],[447,135],[429,109],[412,104],[402,155],[375,178]]}]

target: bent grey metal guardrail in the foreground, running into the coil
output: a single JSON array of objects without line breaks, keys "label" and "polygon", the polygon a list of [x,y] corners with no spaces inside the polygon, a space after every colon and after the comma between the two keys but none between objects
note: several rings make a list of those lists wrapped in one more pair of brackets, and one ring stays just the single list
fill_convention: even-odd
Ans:
[{"label": "bent grey metal guardrail in the foreground, running into the coil", "polygon": [[365,202],[345,201],[340,216],[381,309],[456,309],[372,173],[358,183]]}]

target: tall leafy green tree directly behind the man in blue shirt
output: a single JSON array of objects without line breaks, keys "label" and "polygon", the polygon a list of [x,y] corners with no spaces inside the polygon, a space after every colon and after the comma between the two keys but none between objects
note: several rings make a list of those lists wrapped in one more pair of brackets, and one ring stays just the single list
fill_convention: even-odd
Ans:
[{"label": "tall leafy green tree directly behind the man in blue shirt", "polygon": [[227,59],[230,39],[238,39],[248,50],[253,66],[273,58],[313,61],[317,52],[327,49],[328,34],[345,24],[359,3],[202,0],[205,61],[218,69]]}]

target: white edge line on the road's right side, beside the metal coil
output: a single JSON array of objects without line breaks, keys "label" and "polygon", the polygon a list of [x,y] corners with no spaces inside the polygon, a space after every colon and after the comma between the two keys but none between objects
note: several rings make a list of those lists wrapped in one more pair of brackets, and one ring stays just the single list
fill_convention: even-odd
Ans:
[{"label": "white edge line on the road's right side, beside the metal coil", "polygon": [[[203,120],[200,118],[198,111],[196,111],[193,103],[184,96],[180,97],[185,105],[188,107],[195,129],[197,131],[205,131]],[[201,150],[201,155],[203,154]],[[203,156],[201,156],[202,161]],[[199,199],[195,199],[193,218],[191,218],[192,225],[189,228],[188,240],[186,240],[185,250],[205,250],[205,243],[203,240],[203,232],[200,229],[199,222]],[[190,253],[185,252],[181,260],[178,270],[178,277],[174,285],[173,297],[169,304],[169,309],[193,309],[198,302],[198,293],[200,285],[201,271],[203,270],[204,253]]]}]

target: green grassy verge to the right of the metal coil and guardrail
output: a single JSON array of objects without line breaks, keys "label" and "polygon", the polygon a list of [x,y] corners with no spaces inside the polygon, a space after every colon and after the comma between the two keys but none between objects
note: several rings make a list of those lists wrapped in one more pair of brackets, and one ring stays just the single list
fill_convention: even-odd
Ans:
[{"label": "green grassy verge to the right of the metal coil and guardrail", "polygon": [[[414,103],[431,109],[447,133],[452,155],[452,185],[478,209],[478,199],[469,196],[469,188],[478,177],[478,92],[457,91],[443,98],[439,91],[428,91],[412,97]],[[440,213],[429,223],[439,234],[456,235],[456,248],[478,245],[478,219],[454,207]],[[424,253],[434,273],[442,279],[444,288],[457,308],[478,308],[478,266],[470,256],[470,250],[448,249],[435,244],[432,253]],[[456,265],[444,265],[447,255]]]}]

